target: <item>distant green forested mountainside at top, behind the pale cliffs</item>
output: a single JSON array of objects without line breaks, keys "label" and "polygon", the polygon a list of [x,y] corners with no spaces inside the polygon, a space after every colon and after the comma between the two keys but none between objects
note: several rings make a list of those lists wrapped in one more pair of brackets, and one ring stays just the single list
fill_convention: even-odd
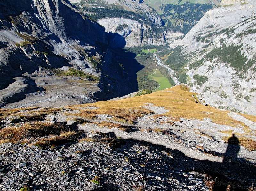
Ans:
[{"label": "distant green forested mountainside at top, behind the pale cliffs", "polygon": [[161,15],[165,26],[186,34],[205,12],[220,5],[220,0],[145,0],[145,3]]}]

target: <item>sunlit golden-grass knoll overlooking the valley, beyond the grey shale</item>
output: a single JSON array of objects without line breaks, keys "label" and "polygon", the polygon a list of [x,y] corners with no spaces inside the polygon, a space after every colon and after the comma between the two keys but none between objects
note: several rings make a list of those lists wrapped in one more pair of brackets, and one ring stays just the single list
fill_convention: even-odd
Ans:
[{"label": "sunlit golden-grass knoll overlooking the valley, beyond the grey shale", "polygon": [[[181,89],[182,86],[175,86],[151,94],[121,99],[118,101],[100,101],[93,104],[76,105],[76,107],[99,107],[93,110],[96,114],[110,114],[113,116],[121,116],[127,120],[136,120],[138,116],[150,113],[149,110],[143,108],[145,103],[152,103],[155,106],[161,106],[168,109],[169,112],[164,115],[175,119],[198,119],[210,118],[214,123],[221,125],[230,125],[233,127],[247,126],[231,118],[228,111],[218,110],[213,107],[204,106],[195,103],[191,97],[193,92],[188,92]],[[183,87],[184,88],[184,87]],[[83,111],[89,112],[89,111]]]}]

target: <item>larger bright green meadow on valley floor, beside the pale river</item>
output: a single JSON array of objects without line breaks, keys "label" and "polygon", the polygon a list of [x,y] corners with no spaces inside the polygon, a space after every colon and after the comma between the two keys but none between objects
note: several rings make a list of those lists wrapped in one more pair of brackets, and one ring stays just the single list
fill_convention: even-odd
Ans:
[{"label": "larger bright green meadow on valley floor, beside the pale river", "polygon": [[156,71],[149,73],[148,77],[152,80],[157,81],[159,84],[159,87],[153,90],[153,92],[172,87],[169,80],[163,74],[161,74],[161,72],[158,69],[156,69]]}]

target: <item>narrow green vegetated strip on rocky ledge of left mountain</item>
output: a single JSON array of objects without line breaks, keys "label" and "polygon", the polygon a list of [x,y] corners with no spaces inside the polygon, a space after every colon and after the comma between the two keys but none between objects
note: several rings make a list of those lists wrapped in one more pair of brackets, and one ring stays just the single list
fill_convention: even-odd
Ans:
[{"label": "narrow green vegetated strip on rocky ledge of left mountain", "polygon": [[59,76],[78,76],[78,77],[85,77],[89,80],[99,80],[99,77],[92,76],[90,74],[85,73],[84,71],[77,70],[74,68],[69,68],[68,70],[61,71],[61,70],[54,70],[54,73]]}]

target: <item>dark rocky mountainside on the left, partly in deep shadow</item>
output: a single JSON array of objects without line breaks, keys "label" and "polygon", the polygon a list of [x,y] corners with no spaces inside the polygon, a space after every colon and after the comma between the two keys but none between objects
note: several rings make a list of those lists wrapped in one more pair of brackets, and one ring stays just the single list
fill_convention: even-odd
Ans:
[{"label": "dark rocky mountainside on the left, partly in deep shadow", "polygon": [[105,29],[68,1],[0,6],[1,106],[74,104],[137,90],[113,58]]}]

